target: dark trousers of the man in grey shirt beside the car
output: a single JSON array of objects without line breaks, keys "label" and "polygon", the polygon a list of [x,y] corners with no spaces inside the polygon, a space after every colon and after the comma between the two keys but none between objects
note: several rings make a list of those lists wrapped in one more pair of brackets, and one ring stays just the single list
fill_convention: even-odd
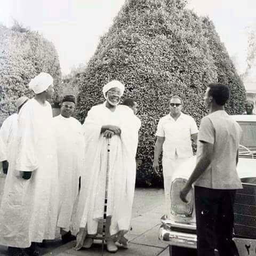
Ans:
[{"label": "dark trousers of the man in grey shirt beside the car", "polygon": [[232,240],[235,189],[210,189],[195,186],[197,255],[238,255]]}]

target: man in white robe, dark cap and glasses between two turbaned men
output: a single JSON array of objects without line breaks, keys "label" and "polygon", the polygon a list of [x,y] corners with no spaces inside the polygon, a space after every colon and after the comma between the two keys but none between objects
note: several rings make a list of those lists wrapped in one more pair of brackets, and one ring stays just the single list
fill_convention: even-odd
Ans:
[{"label": "man in white robe, dark cap and glasses between two turbaned men", "polygon": [[71,235],[71,214],[78,194],[79,176],[84,158],[82,124],[71,117],[75,110],[74,95],[66,95],[61,103],[60,115],[53,118],[57,140],[59,169],[59,214],[57,226],[63,242],[76,239]]}]

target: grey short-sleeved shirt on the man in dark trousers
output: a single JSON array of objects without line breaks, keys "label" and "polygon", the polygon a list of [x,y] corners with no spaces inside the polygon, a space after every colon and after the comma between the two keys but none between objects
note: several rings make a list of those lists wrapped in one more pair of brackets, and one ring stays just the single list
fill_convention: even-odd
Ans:
[{"label": "grey short-sleeved shirt on the man in dark trousers", "polygon": [[213,144],[210,166],[197,179],[195,186],[213,189],[242,188],[236,171],[236,155],[242,129],[225,110],[205,116],[197,137],[197,162],[202,156],[202,143]]}]

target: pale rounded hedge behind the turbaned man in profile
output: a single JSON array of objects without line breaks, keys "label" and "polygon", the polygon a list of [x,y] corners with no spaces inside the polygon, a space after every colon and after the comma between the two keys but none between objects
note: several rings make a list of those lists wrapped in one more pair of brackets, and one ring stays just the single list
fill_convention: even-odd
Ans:
[{"label": "pale rounded hedge behind the turbaned man in profile", "polygon": [[33,96],[28,83],[42,71],[53,76],[58,93],[61,71],[54,45],[18,23],[12,28],[0,25],[0,125],[16,111],[17,98]]}]

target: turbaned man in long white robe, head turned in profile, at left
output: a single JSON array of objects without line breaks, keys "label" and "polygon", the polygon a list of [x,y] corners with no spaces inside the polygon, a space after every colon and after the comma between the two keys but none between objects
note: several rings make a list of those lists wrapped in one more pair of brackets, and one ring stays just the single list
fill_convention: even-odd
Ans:
[{"label": "turbaned man in long white robe, head turned in profile, at left", "polygon": [[53,78],[40,73],[29,83],[35,97],[18,116],[0,207],[0,244],[9,255],[39,255],[36,243],[54,239],[58,214],[58,166],[52,109]]}]

